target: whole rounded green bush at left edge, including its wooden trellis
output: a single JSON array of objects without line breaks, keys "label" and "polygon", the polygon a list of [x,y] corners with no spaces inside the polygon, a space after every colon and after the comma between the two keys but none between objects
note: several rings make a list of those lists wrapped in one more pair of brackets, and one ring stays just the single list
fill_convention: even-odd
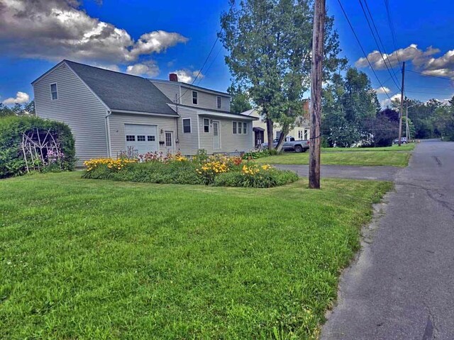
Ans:
[{"label": "whole rounded green bush at left edge, including its wooden trellis", "polygon": [[31,116],[0,118],[0,178],[73,170],[75,161],[74,138],[66,124]]}]

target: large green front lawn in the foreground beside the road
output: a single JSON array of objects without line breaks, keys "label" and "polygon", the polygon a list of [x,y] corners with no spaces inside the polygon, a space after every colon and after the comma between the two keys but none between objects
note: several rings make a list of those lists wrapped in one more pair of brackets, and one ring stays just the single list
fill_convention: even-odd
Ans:
[{"label": "large green front lawn in the foreground beside the road", "polygon": [[311,339],[391,183],[0,181],[0,339]]}]

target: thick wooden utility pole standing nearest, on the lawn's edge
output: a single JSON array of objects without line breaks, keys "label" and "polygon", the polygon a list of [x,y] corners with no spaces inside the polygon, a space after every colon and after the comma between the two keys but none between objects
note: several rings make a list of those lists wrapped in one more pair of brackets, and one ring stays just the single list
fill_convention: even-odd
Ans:
[{"label": "thick wooden utility pole standing nearest, on the lawn's edge", "polygon": [[323,28],[325,26],[325,0],[315,0],[314,31],[312,33],[311,69],[311,138],[309,143],[309,188],[320,188],[321,147],[321,78],[323,60]]}]

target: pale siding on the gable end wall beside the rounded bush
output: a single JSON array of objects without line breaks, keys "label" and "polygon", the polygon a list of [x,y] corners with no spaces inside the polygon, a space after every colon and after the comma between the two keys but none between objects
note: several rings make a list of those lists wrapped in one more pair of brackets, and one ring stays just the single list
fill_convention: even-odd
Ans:
[{"label": "pale siding on the gable end wall beside the rounded bush", "polygon": [[[50,84],[57,84],[52,100]],[[36,115],[69,125],[75,139],[77,166],[91,158],[107,157],[106,106],[65,64],[33,84]]]}]

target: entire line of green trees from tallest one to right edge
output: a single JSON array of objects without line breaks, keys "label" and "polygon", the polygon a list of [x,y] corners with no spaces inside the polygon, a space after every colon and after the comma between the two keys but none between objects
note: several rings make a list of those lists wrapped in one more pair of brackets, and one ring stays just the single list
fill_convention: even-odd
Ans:
[{"label": "entire line of green trees from tallest one to right edge", "polygon": [[[311,77],[312,5],[305,0],[245,0],[221,16],[218,37],[228,52],[225,60],[232,74],[228,89],[233,97],[231,111],[258,108],[267,125],[270,148],[273,126],[278,123],[281,127],[279,150],[296,118],[303,115]],[[367,74],[348,67],[348,60],[339,56],[333,22],[332,16],[326,16],[323,143],[341,147],[391,145],[398,136],[399,101],[380,107]],[[409,101],[411,137],[452,133],[452,105],[435,100],[414,104]]]}]

